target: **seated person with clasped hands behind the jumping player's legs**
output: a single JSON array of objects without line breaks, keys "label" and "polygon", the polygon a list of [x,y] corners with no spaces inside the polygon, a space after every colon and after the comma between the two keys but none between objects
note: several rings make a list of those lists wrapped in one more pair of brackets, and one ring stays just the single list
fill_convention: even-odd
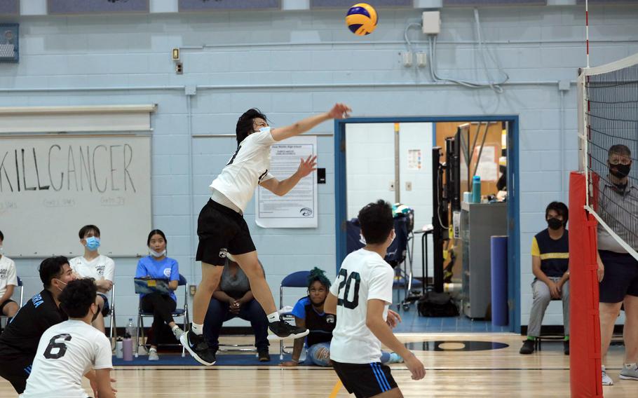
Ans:
[{"label": "seated person with clasped hands behind the jumping player's legs", "polygon": [[[232,256],[230,256],[232,258]],[[261,264],[261,263],[260,263]],[[262,266],[262,270],[264,267]],[[260,362],[270,361],[268,342],[268,318],[254,299],[248,277],[239,265],[226,259],[222,277],[210,298],[208,312],[204,320],[204,337],[212,352],[219,349],[219,331],[222,324],[234,317],[250,322],[254,331],[254,346]]]}]

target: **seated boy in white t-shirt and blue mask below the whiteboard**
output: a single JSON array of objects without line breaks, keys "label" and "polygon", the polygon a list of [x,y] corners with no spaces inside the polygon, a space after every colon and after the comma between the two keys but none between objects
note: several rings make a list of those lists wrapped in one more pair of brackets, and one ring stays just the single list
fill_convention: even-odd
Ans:
[{"label": "seated boy in white t-shirt and blue mask below the whiteboard", "polygon": [[115,262],[107,256],[97,252],[100,247],[100,228],[94,225],[86,225],[78,233],[80,243],[84,247],[84,255],[77,256],[69,261],[74,273],[79,277],[92,277],[97,287],[97,299],[95,303],[100,311],[93,320],[93,327],[104,333],[104,317],[109,315],[109,300],[107,293],[113,289],[115,275]]}]

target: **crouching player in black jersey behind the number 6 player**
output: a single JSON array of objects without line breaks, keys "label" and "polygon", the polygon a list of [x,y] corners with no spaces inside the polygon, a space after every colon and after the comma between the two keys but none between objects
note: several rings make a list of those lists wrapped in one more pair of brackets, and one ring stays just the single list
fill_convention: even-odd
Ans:
[{"label": "crouching player in black jersey behind the number 6 player", "polygon": [[59,297],[67,283],[75,279],[64,256],[45,259],[39,271],[43,291],[27,301],[0,334],[0,377],[8,380],[18,394],[27,385],[40,337],[68,318],[60,310]]}]

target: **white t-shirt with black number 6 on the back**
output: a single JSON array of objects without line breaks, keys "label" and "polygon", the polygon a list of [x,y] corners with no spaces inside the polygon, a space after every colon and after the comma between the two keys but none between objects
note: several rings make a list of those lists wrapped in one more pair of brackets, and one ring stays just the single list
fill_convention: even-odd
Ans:
[{"label": "white t-shirt with black number 6 on the back", "polygon": [[81,320],[67,320],[42,334],[20,398],[86,398],[82,377],[91,369],[111,368],[107,336]]}]

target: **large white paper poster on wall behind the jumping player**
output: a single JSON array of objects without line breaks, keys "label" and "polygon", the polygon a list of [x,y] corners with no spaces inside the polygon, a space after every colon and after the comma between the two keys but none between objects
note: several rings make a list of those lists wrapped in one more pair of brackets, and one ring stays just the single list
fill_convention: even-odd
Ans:
[{"label": "large white paper poster on wall behind the jumping player", "polygon": [[[271,146],[271,174],[283,180],[299,167],[301,158],[317,154],[317,137],[301,136]],[[284,196],[257,188],[255,223],[262,228],[316,228],[318,226],[317,172],[299,181]]]}]

